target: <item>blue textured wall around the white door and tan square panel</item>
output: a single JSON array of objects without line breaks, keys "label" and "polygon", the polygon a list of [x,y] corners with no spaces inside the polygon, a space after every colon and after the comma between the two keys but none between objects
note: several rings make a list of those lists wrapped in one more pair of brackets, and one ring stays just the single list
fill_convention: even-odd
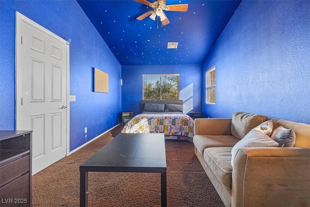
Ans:
[{"label": "blue textured wall around the white door and tan square panel", "polygon": [[[0,9],[0,129],[15,129],[15,11],[72,39],[70,151],[119,123],[121,65],[75,0],[0,0]],[[109,74],[109,94],[93,92],[93,67]]]}]

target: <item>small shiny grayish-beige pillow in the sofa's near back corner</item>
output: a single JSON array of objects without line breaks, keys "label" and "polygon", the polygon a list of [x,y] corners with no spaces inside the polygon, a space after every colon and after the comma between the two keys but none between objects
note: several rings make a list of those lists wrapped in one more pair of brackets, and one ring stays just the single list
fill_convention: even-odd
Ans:
[{"label": "small shiny grayish-beige pillow in the sofa's near back corner", "polygon": [[270,137],[279,143],[280,147],[293,147],[296,139],[293,129],[287,129],[282,126],[275,128]]}]

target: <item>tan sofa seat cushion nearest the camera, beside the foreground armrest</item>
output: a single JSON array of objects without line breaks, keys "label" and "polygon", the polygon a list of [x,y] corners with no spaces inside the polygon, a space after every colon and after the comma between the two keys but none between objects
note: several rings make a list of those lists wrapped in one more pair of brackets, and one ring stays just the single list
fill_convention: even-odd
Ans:
[{"label": "tan sofa seat cushion nearest the camera, beside the foreground armrest", "polygon": [[232,189],[232,147],[210,147],[204,150],[203,158],[217,179],[227,189]]}]

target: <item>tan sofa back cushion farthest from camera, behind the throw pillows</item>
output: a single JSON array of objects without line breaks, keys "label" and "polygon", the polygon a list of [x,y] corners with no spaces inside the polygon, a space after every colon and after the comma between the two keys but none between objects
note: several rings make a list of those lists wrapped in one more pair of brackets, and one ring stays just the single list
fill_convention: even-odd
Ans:
[{"label": "tan sofa back cushion farthest from camera, behind the throw pillows", "polygon": [[232,135],[238,139],[244,138],[248,132],[268,119],[267,116],[237,111],[233,113]]}]

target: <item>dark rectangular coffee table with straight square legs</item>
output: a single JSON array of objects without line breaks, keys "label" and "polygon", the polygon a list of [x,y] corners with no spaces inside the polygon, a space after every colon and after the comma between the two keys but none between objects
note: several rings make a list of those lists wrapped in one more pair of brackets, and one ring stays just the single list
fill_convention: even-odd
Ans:
[{"label": "dark rectangular coffee table with straight square legs", "polygon": [[164,134],[119,134],[79,166],[80,207],[88,206],[88,172],[160,173],[161,206],[167,206]]}]

